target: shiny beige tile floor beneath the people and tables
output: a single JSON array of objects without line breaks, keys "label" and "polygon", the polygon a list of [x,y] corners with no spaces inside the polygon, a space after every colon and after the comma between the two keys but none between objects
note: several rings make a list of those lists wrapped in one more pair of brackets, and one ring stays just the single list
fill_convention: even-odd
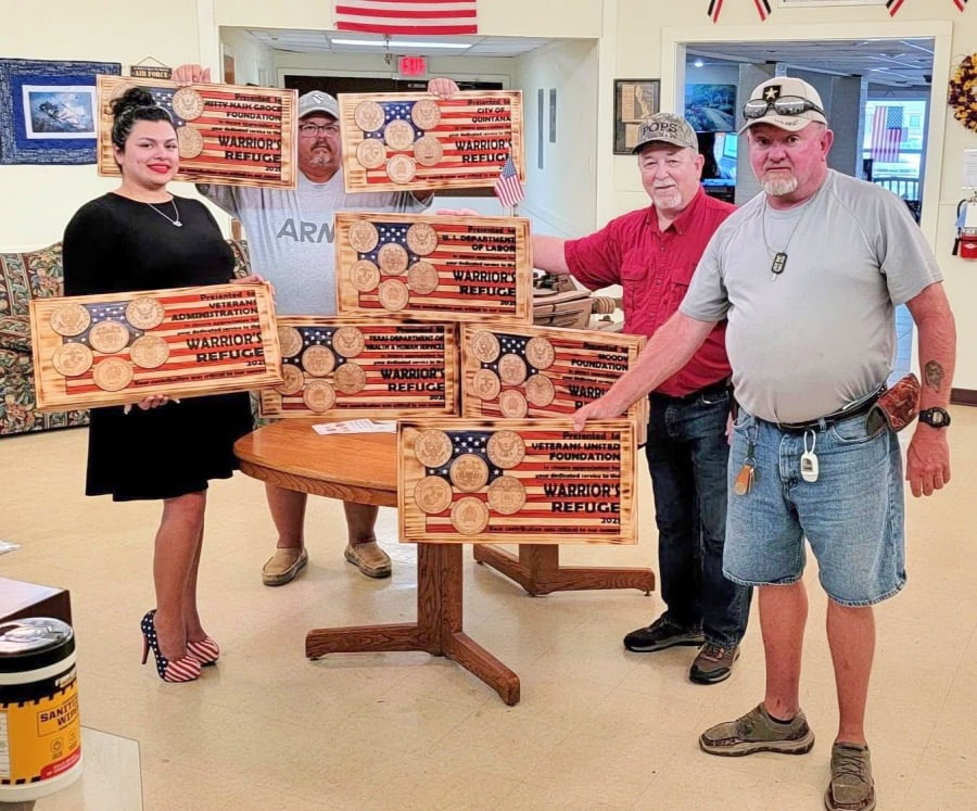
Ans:
[{"label": "shiny beige tile floor beneath the people and tables", "polygon": [[[879,608],[870,728],[880,809],[977,808],[973,494],[977,410],[953,409],[954,476],[910,499],[910,583]],[[145,808],[180,809],[791,809],[822,808],[837,722],[824,598],[809,570],[802,705],[819,735],[803,757],[722,759],[697,734],[761,696],[756,618],[733,677],[685,675],[690,648],[627,654],[621,636],[658,614],[657,594],[532,598],[466,553],[466,630],[510,666],[522,700],[420,652],[303,657],[314,626],[414,618],[416,556],[381,512],[394,576],[370,581],[342,558],[337,504],[313,499],[312,562],[264,587],[274,544],[259,483],[211,491],[202,608],[224,656],[199,682],[139,667],[152,607],[152,504],[81,495],[85,430],[0,440],[0,573],[72,591],[86,726],[139,742]],[[570,563],[648,565],[651,498],[635,547],[563,547]],[[970,505],[969,507],[967,505]],[[106,798],[100,811],[120,809]]]}]

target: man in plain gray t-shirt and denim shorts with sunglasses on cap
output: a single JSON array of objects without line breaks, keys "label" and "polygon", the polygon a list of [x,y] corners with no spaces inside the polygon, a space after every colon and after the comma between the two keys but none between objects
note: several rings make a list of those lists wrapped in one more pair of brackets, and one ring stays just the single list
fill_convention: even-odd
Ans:
[{"label": "man in plain gray t-shirt and denim shorts with sunglasses on cap", "polygon": [[777,77],[744,106],[763,193],[716,230],[678,313],[587,419],[622,414],[680,368],[727,318],[739,415],[733,430],[723,571],[758,587],[766,655],[763,701],[699,738],[711,755],[799,755],[814,745],[799,706],[808,601],[805,546],[828,595],[838,693],[829,811],[875,808],[864,717],[875,646],[872,606],[905,583],[902,458],[867,419],[891,371],[893,306],[918,329],[919,423],[909,444],[913,495],[950,480],[946,427],[955,328],[942,277],[904,203],[827,168],[821,98]]}]

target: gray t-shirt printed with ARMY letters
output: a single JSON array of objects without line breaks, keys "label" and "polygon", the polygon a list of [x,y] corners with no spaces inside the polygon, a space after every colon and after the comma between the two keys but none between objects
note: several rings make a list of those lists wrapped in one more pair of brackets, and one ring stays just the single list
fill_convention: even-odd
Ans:
[{"label": "gray t-shirt printed with ARMY letters", "polygon": [[299,173],[295,191],[196,188],[244,224],[251,266],[275,286],[279,315],[335,315],[335,212],[421,212],[430,205],[404,191],[347,194],[342,169],[325,183]]}]

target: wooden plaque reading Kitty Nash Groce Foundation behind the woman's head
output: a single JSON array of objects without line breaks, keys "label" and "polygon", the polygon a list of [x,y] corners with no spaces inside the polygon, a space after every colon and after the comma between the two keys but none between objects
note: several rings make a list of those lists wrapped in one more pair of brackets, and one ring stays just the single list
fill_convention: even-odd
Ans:
[{"label": "wooden plaque reading Kitty Nash Groce Foundation behind the woman's head", "polygon": [[164,79],[99,76],[99,174],[117,176],[110,102],[149,90],[177,129],[177,180],[294,189],[297,91],[236,85],[180,87]]}]

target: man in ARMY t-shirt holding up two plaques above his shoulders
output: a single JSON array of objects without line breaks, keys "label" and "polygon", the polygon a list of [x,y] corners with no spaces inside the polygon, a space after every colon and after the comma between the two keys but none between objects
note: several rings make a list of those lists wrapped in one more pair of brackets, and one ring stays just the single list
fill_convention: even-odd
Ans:
[{"label": "man in ARMY t-shirt holding up two plaques above his shoulders", "polygon": [[[210,81],[210,71],[182,65],[174,79]],[[447,98],[458,90],[451,79],[432,79],[429,92]],[[289,189],[198,186],[198,190],[244,225],[251,266],[275,287],[278,315],[335,315],[333,215],[338,211],[420,212],[431,193],[347,194],[339,137],[339,103],[318,90],[299,99],[299,185]],[[307,563],[307,494],[266,483],[271,519],[278,531],[275,555],[262,569],[265,585],[284,585]],[[370,578],[388,578],[390,557],[377,544],[377,507],[344,502],[345,558]]]}]

